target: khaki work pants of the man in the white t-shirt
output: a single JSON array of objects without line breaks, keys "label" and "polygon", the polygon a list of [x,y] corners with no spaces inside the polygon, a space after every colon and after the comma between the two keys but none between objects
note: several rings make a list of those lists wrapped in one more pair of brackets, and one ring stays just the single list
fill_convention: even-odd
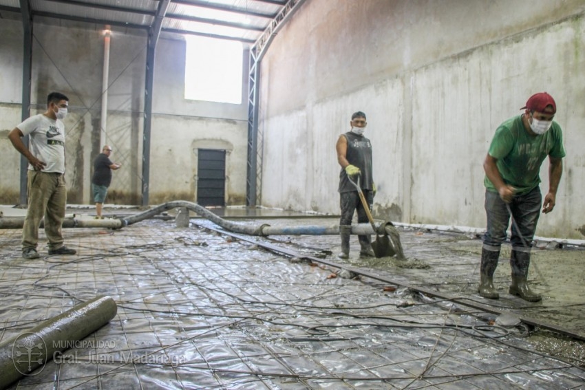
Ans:
[{"label": "khaki work pants of the man in the white t-shirt", "polygon": [[45,217],[45,234],[49,248],[55,250],[63,246],[61,226],[65,219],[67,189],[65,177],[61,173],[28,171],[28,211],[22,229],[22,250],[36,249],[39,242],[39,226]]}]

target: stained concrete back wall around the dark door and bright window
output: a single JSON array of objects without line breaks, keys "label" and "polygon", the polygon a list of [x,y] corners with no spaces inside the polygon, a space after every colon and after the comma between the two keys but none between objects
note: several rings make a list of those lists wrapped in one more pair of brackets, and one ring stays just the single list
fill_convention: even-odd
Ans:
[{"label": "stained concrete back wall around the dark door and bright window", "polygon": [[[8,16],[8,17],[7,17]],[[0,204],[19,202],[19,153],[6,138],[21,122],[23,34],[19,15],[0,22]],[[103,26],[34,19],[31,114],[45,111],[48,92],[70,98],[65,118],[68,203],[91,203],[92,162],[100,153]],[[106,140],[114,172],[107,203],[140,204],[146,33],[113,28]],[[242,104],[184,99],[185,42],[161,36],[155,60],[149,201],[195,201],[198,148],[226,150],[226,203],[246,197],[247,70]],[[247,66],[247,52],[242,56]]]}]

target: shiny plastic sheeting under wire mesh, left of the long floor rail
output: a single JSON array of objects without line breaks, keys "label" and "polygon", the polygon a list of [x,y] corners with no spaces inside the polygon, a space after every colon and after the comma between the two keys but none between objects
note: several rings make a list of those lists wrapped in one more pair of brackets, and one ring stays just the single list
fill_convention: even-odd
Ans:
[{"label": "shiny plastic sheeting under wire mesh, left of the long floor rail", "polygon": [[[0,341],[98,295],[118,314],[14,389],[572,389],[585,380],[493,315],[334,277],[204,228],[150,220],[67,230],[77,255],[48,257],[40,245],[36,260],[20,258],[20,233],[0,231]],[[337,237],[303,240],[288,243],[338,249]],[[427,243],[418,257],[436,250]]]}]

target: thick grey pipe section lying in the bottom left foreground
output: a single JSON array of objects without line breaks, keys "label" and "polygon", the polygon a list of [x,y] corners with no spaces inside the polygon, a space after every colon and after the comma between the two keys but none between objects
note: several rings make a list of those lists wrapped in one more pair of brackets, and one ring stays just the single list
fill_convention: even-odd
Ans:
[{"label": "thick grey pipe section lying in the bottom left foreground", "polygon": [[98,296],[3,341],[0,343],[0,389],[25,375],[36,375],[34,370],[109,323],[117,311],[114,299]]}]

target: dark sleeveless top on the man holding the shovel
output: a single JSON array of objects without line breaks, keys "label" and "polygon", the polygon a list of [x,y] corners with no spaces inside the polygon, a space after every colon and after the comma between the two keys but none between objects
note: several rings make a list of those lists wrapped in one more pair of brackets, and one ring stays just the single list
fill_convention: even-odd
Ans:
[{"label": "dark sleeveless top on the man holding the shovel", "polygon": [[[345,159],[350,164],[359,168],[359,184],[361,189],[372,191],[372,183],[374,182],[372,177],[372,143],[368,138],[358,136],[351,131],[343,134],[343,137],[348,141],[348,151],[345,153]],[[355,177],[352,177],[352,180],[355,181]],[[341,169],[341,172],[339,172],[338,191],[340,193],[356,191],[355,186],[349,182],[345,169]]]}]

